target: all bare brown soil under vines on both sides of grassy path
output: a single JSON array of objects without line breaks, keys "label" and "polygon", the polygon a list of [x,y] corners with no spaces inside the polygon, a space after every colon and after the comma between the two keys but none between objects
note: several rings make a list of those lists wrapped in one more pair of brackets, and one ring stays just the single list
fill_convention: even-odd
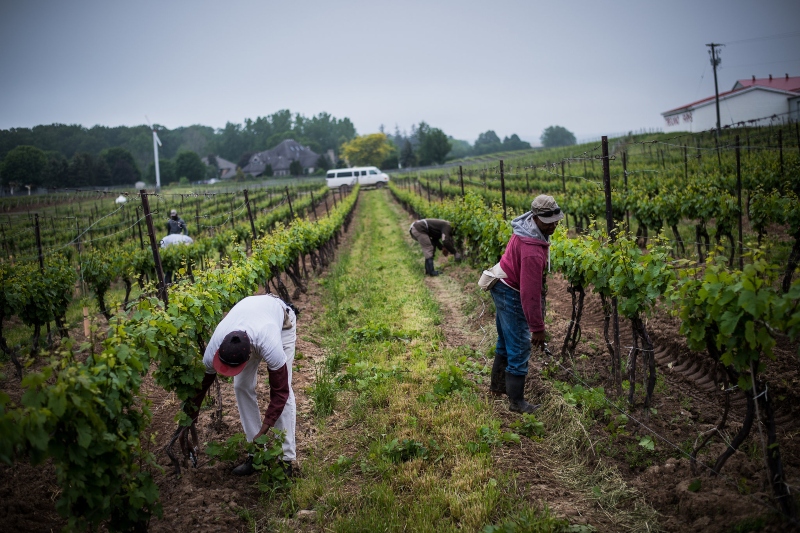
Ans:
[{"label": "all bare brown soil under vines on both sides of grassy path", "polygon": [[[319,206],[317,212],[323,214],[324,206]],[[350,235],[346,235],[342,244],[346,244],[349,238]],[[441,263],[441,259],[437,262]],[[489,305],[479,303],[474,306],[475,297],[471,294],[476,281],[474,268],[452,262],[445,264],[442,276],[426,278],[444,315],[442,328],[447,345],[469,345],[479,353],[487,353],[495,340],[494,314]],[[293,292],[294,287],[288,278],[284,278],[284,283]],[[311,281],[308,285],[308,292],[300,294],[295,301],[301,309],[293,374],[298,409],[298,463],[301,468],[303,457],[315,445],[316,438],[305,390],[314,379],[313,363],[325,355],[314,339],[304,333],[314,315],[323,309],[318,283]],[[553,337],[551,349],[558,353],[572,303],[566,283],[559,276],[550,276],[549,291],[548,330]],[[532,357],[526,393],[529,400],[541,401],[544,394],[552,394],[552,388],[540,378],[543,370],[569,383],[582,381],[592,386],[605,386],[607,395],[611,396],[609,358],[603,339],[603,312],[599,299],[593,294],[586,295],[581,325],[582,338],[575,353],[586,357],[568,360],[564,366],[554,366],[542,356]],[[761,529],[741,530],[789,530],[776,520],[772,511],[771,492],[755,426],[741,451],[728,460],[719,477],[709,475],[701,464],[693,469],[686,458],[684,451],[691,449],[699,434],[717,423],[723,409],[721,393],[714,382],[707,356],[687,348],[678,333],[679,325],[667,309],[659,310],[647,323],[654,343],[657,373],[663,378],[654,394],[656,413],[645,415],[641,406],[629,408],[627,412],[631,420],[616,436],[607,427],[609,419],[598,416],[594,425],[587,428],[586,465],[589,468],[601,463],[613,465],[633,492],[641,495],[659,513],[659,524],[666,531],[731,531],[735,526],[745,524],[745,520],[751,520],[755,525],[755,520],[760,518],[765,519]],[[82,332],[76,331],[75,336],[82,336]],[[622,319],[620,338],[623,347],[630,346],[630,324]],[[779,345],[775,351],[776,360],[768,363],[765,378],[776,405],[778,438],[787,480],[794,486],[800,474],[800,439],[797,438],[800,429],[795,416],[800,409],[797,346]],[[627,351],[623,351],[623,358],[626,355]],[[491,365],[491,360],[486,359],[485,363]],[[18,381],[13,377],[10,363],[5,365],[3,373],[6,379],[0,387],[12,398],[18,396]],[[258,385],[259,398],[262,399],[268,394],[265,379],[266,374],[262,373]],[[488,396],[488,376],[479,387]],[[183,468],[180,478],[174,475],[164,446],[176,427],[174,417],[179,403],[174,395],[156,386],[149,377],[142,390],[152,401],[151,431],[155,434],[152,451],[164,469],[163,473],[154,471],[161,491],[164,517],[154,519],[150,529],[247,531],[249,525],[243,516],[250,513],[256,522],[264,520],[263,512],[259,511],[260,493],[254,480],[230,475],[229,470],[234,464],[210,465],[207,457],[201,454],[199,468]],[[204,411],[198,423],[200,442],[222,441],[241,432],[232,383],[222,382],[221,392],[223,428],[219,432],[213,430],[211,410]],[[494,405],[498,419],[504,426],[509,426],[516,417],[508,412],[506,402],[494,400]],[[732,438],[739,429],[743,416],[744,399],[740,392],[735,391],[724,435],[726,439]],[[638,446],[639,440],[647,435],[652,436],[655,442],[654,452],[646,452]],[[713,465],[725,446],[723,440],[713,439],[698,456],[699,462]],[[569,518],[572,523],[591,524],[598,531],[619,530],[614,516],[611,516],[614,510],[600,508],[586,497],[586,490],[576,490],[560,480],[552,458],[541,456],[541,449],[532,441],[523,439],[520,447],[502,447],[494,453],[500,468],[519,472],[520,490],[532,504],[546,502],[558,515]],[[690,485],[693,482],[696,485],[696,480],[700,480],[700,489],[690,490]],[[57,498],[58,486],[50,463],[36,467],[23,462],[10,467],[0,466],[0,524],[4,531],[60,530],[65,521],[55,511]],[[293,520],[287,522],[287,526],[293,523]]]}]

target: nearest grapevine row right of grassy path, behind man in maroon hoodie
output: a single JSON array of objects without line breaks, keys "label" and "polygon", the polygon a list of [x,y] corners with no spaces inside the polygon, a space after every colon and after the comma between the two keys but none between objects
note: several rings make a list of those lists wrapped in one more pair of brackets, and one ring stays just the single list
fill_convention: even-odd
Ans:
[{"label": "nearest grapevine row right of grassy path, behind man in maroon hoodie", "polygon": [[[470,193],[464,198],[429,202],[395,184],[390,189],[415,215],[450,220],[456,240],[478,266],[486,268],[496,262],[510,238],[510,226],[502,218],[502,208],[497,204],[487,206],[477,195]],[[792,514],[794,503],[784,481],[771,398],[759,391],[766,386],[760,378],[764,358],[773,356],[776,339],[800,338],[800,280],[783,292],[776,288],[780,269],[758,254],[743,271],[731,269],[723,256],[713,252],[704,264],[693,266],[674,261],[669,247],[658,239],[642,250],[624,232],[614,240],[599,230],[570,238],[562,227],[552,238],[551,253],[552,265],[569,283],[573,297],[574,311],[562,353],[566,354],[570,346],[574,349],[577,342],[575,332],[580,328],[584,290],[591,288],[600,296],[606,320],[611,315],[611,300],[615,298],[621,314],[633,326],[633,350],[627,362],[628,400],[634,401],[636,360],[641,357],[645,365],[646,409],[651,405],[655,388],[656,366],[645,319],[655,311],[659,301],[670,302],[682,320],[681,334],[686,336],[689,346],[707,351],[724,368],[726,384],[737,385],[748,400],[745,424],[731,448],[717,460],[715,471],[722,468],[747,437],[760,406],[769,430],[773,491],[783,511]],[[679,268],[685,266],[691,268]],[[608,322],[606,342],[612,369],[618,372],[619,342],[608,338]],[[618,380],[619,375],[614,379]]]}]

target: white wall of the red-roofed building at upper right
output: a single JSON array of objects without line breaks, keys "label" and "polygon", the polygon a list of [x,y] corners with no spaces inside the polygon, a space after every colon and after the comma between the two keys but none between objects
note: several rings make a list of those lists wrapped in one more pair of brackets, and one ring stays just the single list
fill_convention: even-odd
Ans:
[{"label": "white wall of the red-roofed building at upper right", "polygon": [[[733,94],[719,101],[720,125],[735,125],[738,122],[762,119],[778,115],[779,121],[787,120],[789,98],[785,93],[769,90],[749,90]],[[717,110],[714,100],[681,113],[664,117],[664,131],[707,131],[717,127]],[[759,125],[769,124],[769,119]],[[750,124],[752,125],[752,124]]]}]

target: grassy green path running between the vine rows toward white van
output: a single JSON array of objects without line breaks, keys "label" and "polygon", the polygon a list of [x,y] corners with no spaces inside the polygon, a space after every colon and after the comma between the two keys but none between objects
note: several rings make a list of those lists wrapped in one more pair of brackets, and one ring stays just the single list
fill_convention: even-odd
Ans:
[{"label": "grassy green path running between the vine rows toward white van", "polygon": [[312,333],[326,354],[308,391],[316,431],[290,494],[295,509],[316,511],[305,528],[478,531],[510,520],[563,530],[494,464],[492,452],[520,437],[465,374],[473,350],[445,346],[402,213],[381,191],[359,209],[349,249],[321,281]]}]

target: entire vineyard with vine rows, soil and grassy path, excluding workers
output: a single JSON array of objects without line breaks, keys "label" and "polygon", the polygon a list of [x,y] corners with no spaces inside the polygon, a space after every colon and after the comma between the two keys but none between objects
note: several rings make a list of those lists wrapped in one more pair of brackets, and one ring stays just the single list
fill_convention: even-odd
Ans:
[{"label": "entire vineyard with vine rows, soil and grassy path, excluding workers", "polygon": [[[522,152],[401,173],[389,191],[6,201],[0,516],[30,530],[797,527],[796,126]],[[543,406],[520,416],[488,394],[494,309],[475,282],[540,193],[567,218],[549,350],[527,381]],[[194,242],[159,248],[173,208]],[[438,278],[408,238],[424,217],[449,220],[465,258],[437,258]],[[180,414],[216,324],[265,292],[301,310],[291,481],[231,479],[245,443],[229,380],[197,428]]]}]

